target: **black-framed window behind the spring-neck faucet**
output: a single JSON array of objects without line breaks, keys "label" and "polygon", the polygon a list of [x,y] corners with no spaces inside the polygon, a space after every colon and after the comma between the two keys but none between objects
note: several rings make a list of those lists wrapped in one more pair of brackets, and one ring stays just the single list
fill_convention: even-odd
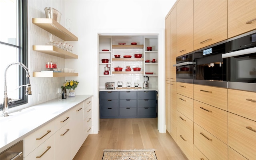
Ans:
[{"label": "black-framed window behind the spring-neck faucet", "polygon": [[[0,110],[3,110],[4,72],[13,62],[28,66],[27,1],[0,0]],[[6,86],[9,108],[27,103],[25,88],[26,72],[19,65],[12,65],[6,71]],[[18,89],[17,89],[18,88]]]}]

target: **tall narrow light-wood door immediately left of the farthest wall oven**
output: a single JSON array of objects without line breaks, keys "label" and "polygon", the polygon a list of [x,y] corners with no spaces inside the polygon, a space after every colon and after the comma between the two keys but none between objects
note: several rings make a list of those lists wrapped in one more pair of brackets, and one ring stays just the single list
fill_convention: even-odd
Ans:
[{"label": "tall narrow light-wood door immediately left of the farthest wall oven", "polygon": [[173,65],[176,64],[176,7],[172,10],[170,14],[170,19],[171,19],[171,29],[170,29],[170,34],[171,34],[171,81],[176,81],[176,67]]}]

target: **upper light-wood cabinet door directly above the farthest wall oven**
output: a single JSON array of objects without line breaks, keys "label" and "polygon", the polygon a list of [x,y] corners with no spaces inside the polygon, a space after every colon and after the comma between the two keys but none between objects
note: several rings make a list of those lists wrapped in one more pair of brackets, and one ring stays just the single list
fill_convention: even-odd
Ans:
[{"label": "upper light-wood cabinet door directly above the farthest wall oven", "polygon": [[193,0],[180,0],[177,8],[177,55],[193,51]]}]

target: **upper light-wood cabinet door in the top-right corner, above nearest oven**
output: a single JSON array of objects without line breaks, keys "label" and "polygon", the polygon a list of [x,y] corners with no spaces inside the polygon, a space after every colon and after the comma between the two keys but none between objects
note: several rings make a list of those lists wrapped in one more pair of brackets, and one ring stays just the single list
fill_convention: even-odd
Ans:
[{"label": "upper light-wood cabinet door in the top-right corner, above nearest oven", "polygon": [[256,0],[228,0],[228,38],[256,29]]}]

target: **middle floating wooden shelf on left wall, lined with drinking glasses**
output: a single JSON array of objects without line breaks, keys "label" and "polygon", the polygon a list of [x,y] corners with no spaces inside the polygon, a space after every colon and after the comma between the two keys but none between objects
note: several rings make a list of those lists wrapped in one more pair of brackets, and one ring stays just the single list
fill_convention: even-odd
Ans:
[{"label": "middle floating wooden shelf on left wall, lined with drinking glasses", "polygon": [[68,52],[66,50],[62,50],[55,46],[33,45],[33,50],[61,58],[78,59],[78,55]]}]

